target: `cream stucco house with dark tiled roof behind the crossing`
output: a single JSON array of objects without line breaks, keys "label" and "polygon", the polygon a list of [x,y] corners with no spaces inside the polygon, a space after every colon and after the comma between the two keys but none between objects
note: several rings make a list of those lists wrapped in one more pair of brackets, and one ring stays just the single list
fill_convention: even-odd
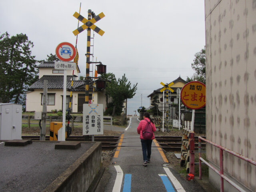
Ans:
[{"label": "cream stucco house with dark tiled roof behind the crossing", "polygon": [[[48,102],[47,112],[52,110],[62,110],[63,102],[63,79],[64,71],[55,70],[54,62],[44,62],[38,65],[39,80],[32,84],[26,91],[26,111],[38,111],[42,112],[42,95],[44,88],[44,80],[48,80]],[[80,70],[77,66],[74,70],[74,82],[72,87],[72,112],[82,112],[83,104],[85,103],[85,81],[77,80]],[[72,70],[67,70],[67,89],[66,89],[66,109],[70,101],[72,81]],[[89,100],[94,104],[103,104],[103,108],[106,108],[106,96],[102,90],[94,87],[93,81],[89,85]],[[93,98],[92,98],[93,97]]]}]

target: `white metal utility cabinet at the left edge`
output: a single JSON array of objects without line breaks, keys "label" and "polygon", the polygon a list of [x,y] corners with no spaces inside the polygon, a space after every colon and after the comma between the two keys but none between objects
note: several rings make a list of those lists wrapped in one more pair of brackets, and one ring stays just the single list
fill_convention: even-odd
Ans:
[{"label": "white metal utility cabinet at the left edge", "polygon": [[0,103],[0,140],[21,139],[22,105]]}]

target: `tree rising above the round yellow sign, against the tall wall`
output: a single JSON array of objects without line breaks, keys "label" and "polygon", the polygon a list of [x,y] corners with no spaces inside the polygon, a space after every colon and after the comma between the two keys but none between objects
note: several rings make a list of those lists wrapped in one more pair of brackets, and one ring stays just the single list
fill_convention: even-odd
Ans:
[{"label": "tree rising above the round yellow sign, against the tall wall", "polygon": [[206,76],[205,76],[205,71],[206,71],[206,57],[205,57],[205,46],[202,48],[200,52],[197,52],[195,54],[195,59],[193,60],[194,62],[191,64],[191,67],[193,70],[196,72],[194,75],[189,78],[187,77],[187,82],[198,80],[202,83],[205,84],[206,81]]}]

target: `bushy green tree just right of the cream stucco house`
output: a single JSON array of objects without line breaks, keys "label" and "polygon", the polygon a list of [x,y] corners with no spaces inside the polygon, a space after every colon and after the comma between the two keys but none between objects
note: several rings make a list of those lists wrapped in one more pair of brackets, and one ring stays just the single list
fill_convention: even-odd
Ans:
[{"label": "bushy green tree just right of the cream stucco house", "polygon": [[112,102],[114,105],[112,116],[115,114],[115,109],[117,107],[123,107],[124,100],[133,98],[133,96],[136,94],[137,90],[137,84],[133,85],[133,88],[131,88],[131,82],[127,80],[127,78],[122,76],[122,79],[118,78],[118,80],[113,80],[106,86],[106,92],[108,96],[112,98]]}]

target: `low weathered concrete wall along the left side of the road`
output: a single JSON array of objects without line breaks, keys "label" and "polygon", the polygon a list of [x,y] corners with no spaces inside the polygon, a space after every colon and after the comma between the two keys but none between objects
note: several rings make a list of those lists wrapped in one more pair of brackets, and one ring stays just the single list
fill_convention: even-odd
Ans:
[{"label": "low weathered concrete wall along the left side of the road", "polygon": [[102,166],[101,154],[101,142],[95,142],[43,192],[86,192]]}]

